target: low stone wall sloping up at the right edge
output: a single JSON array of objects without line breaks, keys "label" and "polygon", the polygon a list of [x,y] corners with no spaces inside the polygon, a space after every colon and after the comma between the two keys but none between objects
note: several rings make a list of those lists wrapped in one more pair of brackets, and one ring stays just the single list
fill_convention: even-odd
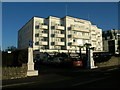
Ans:
[{"label": "low stone wall sloping up at the right edge", "polygon": [[108,67],[108,66],[120,66],[120,57],[112,56],[106,62],[96,63],[98,67]]}]

